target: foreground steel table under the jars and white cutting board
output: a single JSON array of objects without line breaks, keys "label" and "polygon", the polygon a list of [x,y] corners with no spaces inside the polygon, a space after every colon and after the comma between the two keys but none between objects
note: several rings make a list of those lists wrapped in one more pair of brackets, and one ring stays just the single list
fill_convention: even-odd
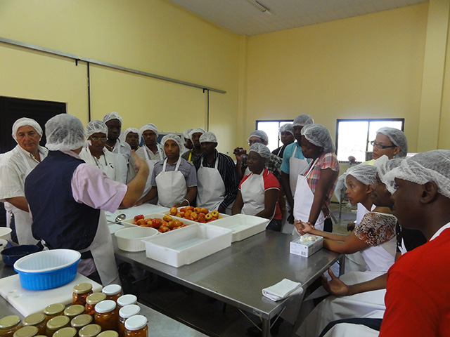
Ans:
[{"label": "foreground steel table under the jars and white cutting board", "polygon": [[[0,278],[14,275],[16,272],[13,267],[6,266],[0,259]],[[205,334],[192,329],[190,326],[186,326],[181,322],[176,321],[162,313],[148,308],[146,305],[138,303],[141,308],[141,315],[144,315],[148,319],[148,331],[150,336],[164,336],[164,337],[206,337]],[[0,296],[0,318],[8,315],[23,315],[15,310],[15,308],[8,303],[2,296]]]}]

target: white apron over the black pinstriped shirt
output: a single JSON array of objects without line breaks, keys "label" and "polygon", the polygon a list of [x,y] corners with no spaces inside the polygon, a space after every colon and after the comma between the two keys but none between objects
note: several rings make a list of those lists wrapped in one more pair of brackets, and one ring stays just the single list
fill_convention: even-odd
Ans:
[{"label": "white apron over the black pinstriped shirt", "polygon": [[217,169],[218,165],[219,157],[214,167],[205,167],[200,163],[197,171],[197,206],[210,211],[219,209],[225,199],[225,184]]}]

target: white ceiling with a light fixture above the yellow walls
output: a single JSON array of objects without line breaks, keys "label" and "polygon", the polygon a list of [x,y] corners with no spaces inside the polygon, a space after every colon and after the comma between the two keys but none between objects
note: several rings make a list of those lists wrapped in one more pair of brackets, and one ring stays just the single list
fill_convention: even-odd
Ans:
[{"label": "white ceiling with a light fixture above the yellow walls", "polygon": [[351,18],[428,0],[169,0],[216,25],[247,36]]}]

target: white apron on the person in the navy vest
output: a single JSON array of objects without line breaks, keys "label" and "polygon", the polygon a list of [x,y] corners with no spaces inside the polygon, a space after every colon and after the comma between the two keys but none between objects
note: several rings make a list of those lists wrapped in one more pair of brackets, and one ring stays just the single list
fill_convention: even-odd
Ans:
[{"label": "white apron on the person in the navy vest", "polygon": [[88,248],[83,249],[80,253],[84,251],[91,251],[103,286],[120,284],[119,273],[117,272],[117,265],[115,263],[113,239],[111,239],[111,233],[106,224],[105,211],[100,211],[94,240]]}]

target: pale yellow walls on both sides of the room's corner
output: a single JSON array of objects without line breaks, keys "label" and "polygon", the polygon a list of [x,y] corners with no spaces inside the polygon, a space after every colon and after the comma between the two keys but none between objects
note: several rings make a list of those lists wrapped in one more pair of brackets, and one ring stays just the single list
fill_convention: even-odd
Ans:
[{"label": "pale yellow walls on both sides of the room's corner", "polygon": [[[302,112],[333,136],[338,118],[403,117],[415,152],[450,146],[447,1],[243,37],[165,0],[1,0],[0,37],[226,91],[210,93],[222,152],[244,145],[256,119]],[[0,95],[66,102],[88,121],[85,62],[2,43],[0,60]],[[200,89],[96,65],[91,107],[92,119],[120,112],[124,128],[207,126]]]}]

